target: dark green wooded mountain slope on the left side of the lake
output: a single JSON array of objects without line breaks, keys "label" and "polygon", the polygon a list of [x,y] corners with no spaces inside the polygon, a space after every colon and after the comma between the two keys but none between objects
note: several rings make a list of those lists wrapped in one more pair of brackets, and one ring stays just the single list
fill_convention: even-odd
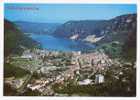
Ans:
[{"label": "dark green wooded mountain slope on the left side of the lake", "polygon": [[4,55],[21,54],[23,48],[40,47],[39,44],[23,34],[18,27],[4,20]]}]

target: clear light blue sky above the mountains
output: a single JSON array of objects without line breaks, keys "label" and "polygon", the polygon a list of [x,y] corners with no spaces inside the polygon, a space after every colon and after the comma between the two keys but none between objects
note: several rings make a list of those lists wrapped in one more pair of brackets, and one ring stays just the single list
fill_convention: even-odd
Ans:
[{"label": "clear light blue sky above the mountains", "polygon": [[64,23],[69,20],[108,20],[136,13],[135,4],[5,4],[10,21]]}]

